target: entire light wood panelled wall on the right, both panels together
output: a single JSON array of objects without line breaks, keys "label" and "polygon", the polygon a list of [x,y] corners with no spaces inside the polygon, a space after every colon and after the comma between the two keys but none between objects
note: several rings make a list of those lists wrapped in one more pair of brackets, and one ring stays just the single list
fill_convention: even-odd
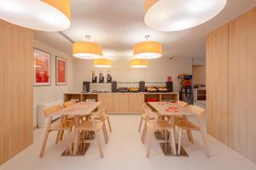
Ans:
[{"label": "entire light wood panelled wall on the right, both panels together", "polygon": [[256,8],[207,37],[207,131],[256,162]]}]

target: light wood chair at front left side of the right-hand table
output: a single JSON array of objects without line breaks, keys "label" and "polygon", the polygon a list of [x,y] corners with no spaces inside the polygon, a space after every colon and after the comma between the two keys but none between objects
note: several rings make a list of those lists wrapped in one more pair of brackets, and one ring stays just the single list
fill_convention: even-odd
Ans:
[{"label": "light wood chair at front left side of the right-hand table", "polygon": [[[159,118],[159,114],[151,111],[151,109],[144,108],[145,113],[147,114],[147,127],[150,130],[150,140],[148,144],[147,157],[150,155],[151,145],[154,140],[155,131],[164,131],[169,132],[169,141],[172,144],[172,150],[174,154],[177,154],[176,144],[175,144],[175,136],[174,136],[174,125],[171,122],[167,122],[164,119]],[[167,142],[167,137],[166,137]]]}]

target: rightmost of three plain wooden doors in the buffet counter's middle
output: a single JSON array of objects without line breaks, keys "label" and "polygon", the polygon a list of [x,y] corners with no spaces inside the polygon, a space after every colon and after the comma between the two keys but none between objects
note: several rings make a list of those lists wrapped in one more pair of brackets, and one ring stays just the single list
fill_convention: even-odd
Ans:
[{"label": "rightmost of three plain wooden doors in the buffet counter's middle", "polygon": [[142,113],[144,94],[127,94],[128,95],[128,111],[129,113]]}]

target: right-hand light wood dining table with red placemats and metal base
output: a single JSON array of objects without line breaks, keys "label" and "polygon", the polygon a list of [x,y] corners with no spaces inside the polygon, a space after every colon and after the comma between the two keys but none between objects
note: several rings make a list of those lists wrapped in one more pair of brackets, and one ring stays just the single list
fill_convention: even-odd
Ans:
[{"label": "right-hand light wood dining table with red placemats and metal base", "polygon": [[[172,102],[148,102],[148,105],[153,108],[156,112],[160,114],[160,116],[167,116],[170,118],[170,122],[175,124],[175,116],[196,116],[195,113],[189,111],[188,108],[181,107]],[[170,109],[171,108],[171,109]],[[173,110],[172,108],[175,108]],[[172,138],[175,139],[175,128],[173,130]],[[177,156],[177,144],[169,143],[160,143],[160,147],[165,154],[165,156]],[[183,149],[181,149],[181,154],[178,156],[189,156],[188,153]]]}]

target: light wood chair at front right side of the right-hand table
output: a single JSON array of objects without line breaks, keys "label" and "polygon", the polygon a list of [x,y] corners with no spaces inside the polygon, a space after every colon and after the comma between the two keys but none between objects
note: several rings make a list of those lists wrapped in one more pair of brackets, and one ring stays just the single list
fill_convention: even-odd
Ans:
[{"label": "light wood chair at front right side of the right-hand table", "polygon": [[202,142],[204,145],[204,150],[205,153],[208,157],[210,157],[210,151],[208,149],[208,144],[207,144],[207,138],[206,138],[206,133],[202,128],[202,119],[205,116],[205,112],[206,110],[199,107],[199,106],[195,106],[195,105],[189,105],[188,106],[189,110],[191,112],[193,112],[196,117],[197,117],[197,122],[198,124],[195,124],[193,122],[189,122],[189,120],[176,120],[175,124],[179,129],[179,135],[178,135],[178,149],[177,149],[177,154],[180,154],[180,150],[181,150],[181,139],[182,139],[182,131],[183,129],[185,130],[196,130],[199,131],[201,133],[201,138],[202,138]]}]

